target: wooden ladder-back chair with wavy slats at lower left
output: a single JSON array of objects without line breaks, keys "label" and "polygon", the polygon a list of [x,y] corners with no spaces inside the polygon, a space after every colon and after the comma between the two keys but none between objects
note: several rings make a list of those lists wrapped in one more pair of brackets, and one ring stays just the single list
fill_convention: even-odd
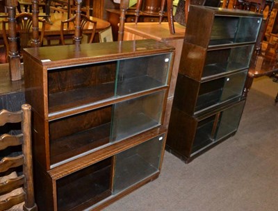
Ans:
[{"label": "wooden ladder-back chair with wavy slats at lower left", "polygon": [[[34,199],[33,162],[31,150],[31,105],[22,105],[22,110],[9,112],[0,110],[0,126],[21,123],[22,133],[3,134],[0,137],[0,155],[7,154],[10,147],[22,146],[22,154],[8,153],[0,162],[0,210],[38,210]],[[22,175],[14,168],[22,166]],[[12,173],[10,173],[12,171]],[[23,187],[23,188],[22,188]],[[16,205],[21,204],[20,207]]]}]

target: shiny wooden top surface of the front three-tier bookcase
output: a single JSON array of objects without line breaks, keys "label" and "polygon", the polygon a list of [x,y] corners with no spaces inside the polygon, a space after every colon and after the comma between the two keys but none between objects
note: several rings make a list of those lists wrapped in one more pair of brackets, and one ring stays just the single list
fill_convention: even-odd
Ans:
[{"label": "shiny wooden top surface of the front three-tier bookcase", "polygon": [[30,48],[24,49],[24,56],[33,58],[33,60],[42,66],[59,67],[146,56],[170,51],[174,51],[174,47],[170,47],[163,42],[132,40]]}]

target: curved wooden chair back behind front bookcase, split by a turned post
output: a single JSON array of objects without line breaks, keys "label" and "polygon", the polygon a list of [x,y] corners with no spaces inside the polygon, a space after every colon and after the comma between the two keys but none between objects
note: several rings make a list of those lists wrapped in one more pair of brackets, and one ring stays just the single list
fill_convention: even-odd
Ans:
[{"label": "curved wooden chair back behind front bookcase, split by a turned post", "polygon": [[[65,21],[61,22],[61,26],[60,26],[60,40],[62,44],[65,44],[65,40],[69,40],[72,39],[73,43],[74,43],[74,39],[72,38],[73,35],[65,35],[65,26],[68,26],[68,24],[74,24],[74,26],[78,26],[79,24],[76,23],[76,15],[74,15],[73,17],[71,17],[70,19],[67,19]],[[88,37],[88,43],[92,43],[92,41],[94,40],[95,37],[95,32],[96,32],[96,28],[97,28],[97,22],[92,21],[90,18],[88,18],[85,15],[81,15],[81,23],[80,23],[80,29],[81,29],[81,34],[83,31],[84,27],[88,27],[88,26],[92,26],[92,31]],[[78,37],[79,39],[81,39],[81,37]]]}]

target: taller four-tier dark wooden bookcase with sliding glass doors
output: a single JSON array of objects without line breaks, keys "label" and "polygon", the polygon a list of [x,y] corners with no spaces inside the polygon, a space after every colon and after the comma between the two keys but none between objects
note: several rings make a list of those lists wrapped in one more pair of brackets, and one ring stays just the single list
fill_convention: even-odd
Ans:
[{"label": "taller four-tier dark wooden bookcase with sliding glass doors", "polygon": [[262,15],[254,12],[190,7],[168,151],[190,162],[236,133],[261,22]]}]

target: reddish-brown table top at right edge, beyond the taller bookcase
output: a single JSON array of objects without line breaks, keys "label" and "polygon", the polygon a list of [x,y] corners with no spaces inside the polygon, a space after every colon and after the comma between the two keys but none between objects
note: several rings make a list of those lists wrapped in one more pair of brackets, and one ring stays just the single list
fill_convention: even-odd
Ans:
[{"label": "reddish-brown table top at right edge, beyond the taller bookcase", "polygon": [[262,52],[259,55],[253,54],[248,75],[257,78],[278,72],[277,53]]}]

